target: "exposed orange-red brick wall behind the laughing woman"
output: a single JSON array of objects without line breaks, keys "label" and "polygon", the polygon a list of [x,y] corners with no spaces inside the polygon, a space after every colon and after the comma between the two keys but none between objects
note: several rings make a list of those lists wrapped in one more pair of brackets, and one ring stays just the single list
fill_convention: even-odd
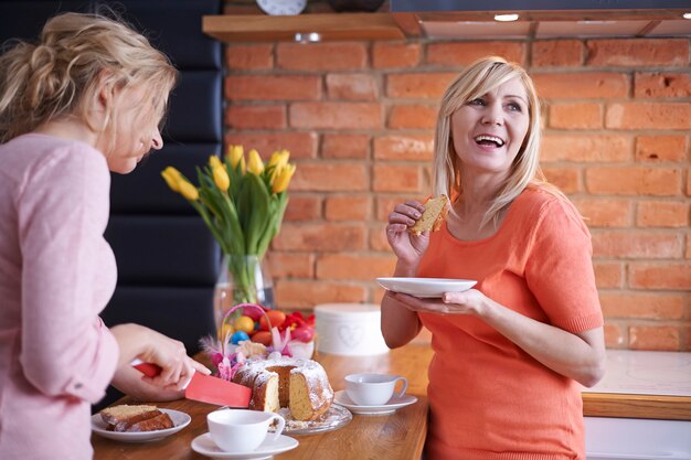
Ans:
[{"label": "exposed orange-red brick wall behind the laughing woman", "polygon": [[379,302],[393,203],[429,193],[437,100],[487,54],[546,103],[542,165],[588,217],[609,347],[691,350],[688,39],[226,47],[225,141],[298,164],[270,250],[277,302]]}]

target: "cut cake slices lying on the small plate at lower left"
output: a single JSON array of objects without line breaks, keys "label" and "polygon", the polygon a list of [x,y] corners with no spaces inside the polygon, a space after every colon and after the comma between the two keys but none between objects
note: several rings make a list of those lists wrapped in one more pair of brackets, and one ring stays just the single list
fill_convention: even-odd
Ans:
[{"label": "cut cake slices lying on the small plate at lower left", "polygon": [[153,431],[172,428],[174,426],[170,416],[162,413],[156,406],[127,405],[107,407],[100,413],[103,421],[108,424],[108,431]]}]

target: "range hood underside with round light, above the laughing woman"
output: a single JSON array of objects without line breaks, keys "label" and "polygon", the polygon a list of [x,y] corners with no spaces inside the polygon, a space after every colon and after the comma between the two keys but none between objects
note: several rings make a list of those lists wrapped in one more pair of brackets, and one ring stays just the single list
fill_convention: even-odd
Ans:
[{"label": "range hood underside with round light, above the laughing woman", "polygon": [[[429,39],[691,36],[691,19],[684,19],[691,0],[391,0],[390,6],[408,36]],[[507,13],[518,19],[496,19]]]}]

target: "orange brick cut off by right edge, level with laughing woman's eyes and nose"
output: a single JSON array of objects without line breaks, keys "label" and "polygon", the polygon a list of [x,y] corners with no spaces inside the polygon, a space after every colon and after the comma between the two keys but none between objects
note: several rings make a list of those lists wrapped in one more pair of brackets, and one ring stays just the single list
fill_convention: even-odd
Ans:
[{"label": "orange brick cut off by right edge, level with laughing woman's eyes and nose", "polygon": [[617,103],[607,105],[609,129],[691,129],[691,104]]}]

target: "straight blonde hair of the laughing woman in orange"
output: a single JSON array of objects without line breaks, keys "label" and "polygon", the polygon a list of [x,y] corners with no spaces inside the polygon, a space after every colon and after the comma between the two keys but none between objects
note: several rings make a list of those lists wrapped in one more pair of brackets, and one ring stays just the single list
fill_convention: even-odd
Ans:
[{"label": "straight blonde hair of the laughing woman in orange", "polygon": [[439,107],[434,142],[433,190],[435,195],[444,193],[457,199],[463,195],[464,189],[460,181],[463,164],[458,160],[450,135],[451,115],[469,100],[483,96],[513,78],[519,78],[525,88],[530,125],[523,145],[513,160],[511,171],[486,212],[481,226],[489,222],[496,225],[499,213],[531,184],[555,190],[546,185],[540,170],[542,132],[538,93],[532,79],[521,66],[509,63],[502,57],[488,56],[472,63],[451,82],[442,97]]}]

